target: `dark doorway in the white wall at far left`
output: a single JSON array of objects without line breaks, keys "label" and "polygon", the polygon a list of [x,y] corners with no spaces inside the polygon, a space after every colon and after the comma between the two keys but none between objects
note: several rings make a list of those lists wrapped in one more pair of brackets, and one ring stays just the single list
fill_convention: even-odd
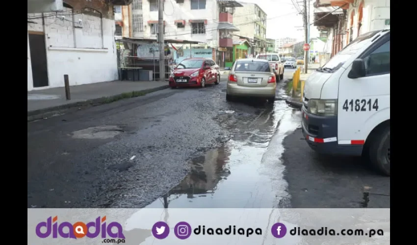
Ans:
[{"label": "dark doorway in the white wall at far left", "polygon": [[33,87],[48,86],[45,34],[43,32],[29,32],[29,49]]}]

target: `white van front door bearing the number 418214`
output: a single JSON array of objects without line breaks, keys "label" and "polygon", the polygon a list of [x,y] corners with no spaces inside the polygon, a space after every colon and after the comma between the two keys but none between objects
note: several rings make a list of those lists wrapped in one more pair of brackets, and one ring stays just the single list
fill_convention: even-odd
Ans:
[{"label": "white van front door bearing the number 418214", "polygon": [[390,118],[390,34],[372,46],[359,57],[365,61],[365,77],[348,78],[349,66],[339,80],[340,145],[365,144],[370,131]]}]

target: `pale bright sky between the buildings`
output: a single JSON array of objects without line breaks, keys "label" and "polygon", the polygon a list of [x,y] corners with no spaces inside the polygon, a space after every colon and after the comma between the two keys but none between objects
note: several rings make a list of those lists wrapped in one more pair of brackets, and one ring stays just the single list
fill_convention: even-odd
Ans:
[{"label": "pale bright sky between the buildings", "polygon": [[[303,17],[297,14],[295,4],[303,8],[303,0],[239,0],[256,3],[266,13],[266,38],[278,39],[284,37],[304,40]],[[307,0],[309,2],[309,0]],[[313,0],[310,0],[310,23],[313,22]],[[310,38],[317,37],[318,31],[310,26]]]}]

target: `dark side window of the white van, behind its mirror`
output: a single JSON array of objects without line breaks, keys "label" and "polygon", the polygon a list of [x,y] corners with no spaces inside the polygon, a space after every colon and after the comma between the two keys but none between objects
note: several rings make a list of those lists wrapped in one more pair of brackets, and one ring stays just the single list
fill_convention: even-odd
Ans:
[{"label": "dark side window of the white van, behind its mirror", "polygon": [[364,58],[366,75],[390,73],[390,40]]}]

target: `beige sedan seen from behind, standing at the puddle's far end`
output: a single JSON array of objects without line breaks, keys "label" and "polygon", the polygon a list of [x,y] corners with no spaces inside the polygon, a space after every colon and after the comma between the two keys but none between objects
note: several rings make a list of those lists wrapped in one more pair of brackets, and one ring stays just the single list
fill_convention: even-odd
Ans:
[{"label": "beige sedan seen from behind, standing at the puddle's far end", "polygon": [[227,79],[226,100],[235,97],[267,98],[275,101],[276,75],[267,60],[238,59]]}]

